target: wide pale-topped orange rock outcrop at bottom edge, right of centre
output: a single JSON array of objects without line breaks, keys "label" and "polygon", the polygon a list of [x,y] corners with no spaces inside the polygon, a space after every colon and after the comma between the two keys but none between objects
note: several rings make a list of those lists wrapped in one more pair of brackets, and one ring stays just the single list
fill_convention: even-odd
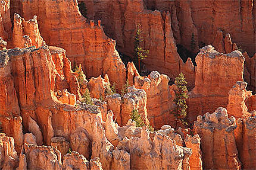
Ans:
[{"label": "wide pale-topped orange rock outcrop at bottom edge, right of centre", "polygon": [[141,137],[124,137],[118,149],[130,153],[131,169],[182,169],[183,160],[192,153],[188,148],[177,146],[165,134],[156,133],[151,140],[146,130],[141,131]]}]

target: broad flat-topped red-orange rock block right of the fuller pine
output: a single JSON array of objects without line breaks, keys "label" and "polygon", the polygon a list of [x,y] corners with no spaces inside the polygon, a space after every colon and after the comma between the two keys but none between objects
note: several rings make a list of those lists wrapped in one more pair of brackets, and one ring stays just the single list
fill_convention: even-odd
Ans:
[{"label": "broad flat-topped red-orange rock block right of the fuller pine", "polygon": [[227,107],[228,93],[237,81],[243,81],[244,57],[235,50],[219,53],[209,45],[196,56],[195,88],[189,93],[188,119],[193,122],[198,114]]}]

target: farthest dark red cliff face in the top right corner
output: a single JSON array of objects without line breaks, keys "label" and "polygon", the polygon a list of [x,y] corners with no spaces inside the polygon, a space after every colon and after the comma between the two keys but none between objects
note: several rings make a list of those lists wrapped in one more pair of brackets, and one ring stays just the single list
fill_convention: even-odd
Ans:
[{"label": "farthest dark red cliff face in the top right corner", "polygon": [[230,33],[233,41],[243,50],[250,54],[255,53],[255,39],[250,36],[256,31],[255,1],[145,0],[145,4],[149,9],[174,11],[171,12],[172,21],[177,20],[177,26],[172,25],[177,29],[173,31],[174,37],[187,49],[191,45],[192,33],[199,45],[201,43],[213,44],[218,30],[221,30],[225,34]]}]

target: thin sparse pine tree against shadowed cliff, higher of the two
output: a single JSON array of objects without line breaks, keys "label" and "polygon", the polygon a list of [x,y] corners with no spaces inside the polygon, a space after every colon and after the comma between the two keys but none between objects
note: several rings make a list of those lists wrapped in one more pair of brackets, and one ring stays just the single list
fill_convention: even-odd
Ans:
[{"label": "thin sparse pine tree against shadowed cliff, higher of the two", "polygon": [[138,67],[139,67],[139,72],[141,72],[141,65],[140,65],[140,60],[146,59],[148,57],[149,50],[144,49],[141,46],[141,42],[144,41],[142,37],[142,28],[141,24],[136,25],[136,33],[134,37],[134,53],[135,57],[138,58]]}]

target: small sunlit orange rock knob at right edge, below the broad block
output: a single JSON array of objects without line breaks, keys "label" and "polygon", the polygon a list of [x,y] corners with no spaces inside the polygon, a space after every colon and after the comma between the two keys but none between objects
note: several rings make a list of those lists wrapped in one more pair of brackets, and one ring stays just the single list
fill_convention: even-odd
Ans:
[{"label": "small sunlit orange rock knob at right edge, below the broad block", "polygon": [[246,91],[246,82],[236,82],[229,91],[229,104],[227,104],[227,113],[236,119],[247,119],[251,116],[246,107],[246,98],[252,95],[251,91]]}]

